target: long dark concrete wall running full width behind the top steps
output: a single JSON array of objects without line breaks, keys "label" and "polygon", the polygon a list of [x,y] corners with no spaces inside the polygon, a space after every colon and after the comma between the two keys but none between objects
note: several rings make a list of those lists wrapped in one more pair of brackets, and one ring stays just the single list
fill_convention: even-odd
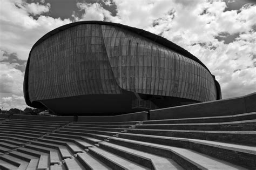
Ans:
[{"label": "long dark concrete wall running full width behind the top steps", "polygon": [[[238,98],[209,101],[200,104],[163,108],[150,111],[150,120],[212,117],[221,115],[235,115],[256,111],[256,93]],[[0,118],[29,119],[45,121],[92,121],[92,122],[119,122],[148,120],[147,112],[137,112],[114,116],[62,116],[45,117],[37,115],[8,115],[0,114]]]}]

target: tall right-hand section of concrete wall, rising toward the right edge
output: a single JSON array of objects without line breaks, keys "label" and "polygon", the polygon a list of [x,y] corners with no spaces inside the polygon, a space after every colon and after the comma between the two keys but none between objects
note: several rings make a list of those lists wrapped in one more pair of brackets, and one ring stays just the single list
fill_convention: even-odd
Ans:
[{"label": "tall right-hand section of concrete wall, rising toward the right edge", "polygon": [[150,111],[151,120],[212,117],[256,111],[256,93],[238,98],[208,101],[200,104],[162,108]]}]

